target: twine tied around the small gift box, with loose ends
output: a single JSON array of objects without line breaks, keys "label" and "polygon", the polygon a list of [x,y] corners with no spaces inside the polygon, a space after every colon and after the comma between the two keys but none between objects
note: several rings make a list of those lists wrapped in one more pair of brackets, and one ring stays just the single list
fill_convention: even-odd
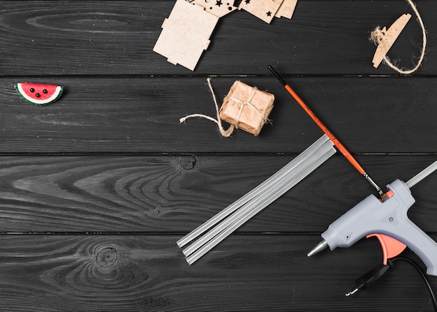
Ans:
[{"label": "twine tied around the small gift box, with loose ends", "polygon": [[243,112],[243,108],[245,105],[249,105],[250,107],[252,107],[255,112],[257,112],[258,114],[260,114],[260,116],[262,117],[262,119],[266,122],[269,119],[266,119],[264,117],[263,114],[261,114],[261,112],[258,110],[257,107],[255,107],[251,101],[253,96],[255,96],[255,92],[257,90],[256,87],[253,87],[253,91],[251,93],[251,95],[249,96],[249,98],[247,99],[247,101],[241,101],[238,98],[235,98],[233,96],[230,96],[230,98],[235,102],[235,103],[239,103],[240,107],[239,107],[239,112],[237,115],[237,118],[235,119],[235,125],[230,125],[229,128],[227,130],[225,130],[225,128],[223,128],[222,124],[221,124],[221,119],[220,119],[220,109],[218,108],[218,103],[217,103],[217,98],[216,98],[216,94],[214,94],[214,89],[212,89],[212,84],[211,84],[211,77],[207,77],[207,82],[208,82],[208,87],[209,87],[209,91],[211,91],[212,94],[212,99],[214,100],[214,105],[216,106],[216,114],[217,114],[217,119],[214,119],[213,117],[210,117],[208,115],[205,114],[190,114],[186,117],[182,117],[181,119],[179,119],[179,122],[184,122],[186,121],[186,119],[188,118],[205,118],[208,119],[210,121],[214,121],[217,126],[218,126],[218,131],[220,131],[221,135],[223,135],[223,137],[230,137],[230,135],[232,135],[232,133],[234,132],[235,129],[238,129],[238,124],[239,124],[239,119],[242,116],[242,112]]}]

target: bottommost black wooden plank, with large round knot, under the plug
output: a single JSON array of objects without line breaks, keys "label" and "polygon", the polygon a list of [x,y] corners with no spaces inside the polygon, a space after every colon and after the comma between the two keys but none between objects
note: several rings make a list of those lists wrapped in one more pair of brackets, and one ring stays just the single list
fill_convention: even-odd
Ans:
[{"label": "bottommost black wooden plank, with large round knot, under the plug", "polygon": [[[412,267],[400,262],[373,288],[353,297],[344,295],[355,278],[380,262],[374,242],[307,258],[307,249],[318,239],[314,235],[238,235],[235,241],[223,243],[221,251],[189,266],[176,239],[175,235],[3,235],[2,309],[432,309],[422,279]],[[429,279],[435,288],[437,279]]]}]

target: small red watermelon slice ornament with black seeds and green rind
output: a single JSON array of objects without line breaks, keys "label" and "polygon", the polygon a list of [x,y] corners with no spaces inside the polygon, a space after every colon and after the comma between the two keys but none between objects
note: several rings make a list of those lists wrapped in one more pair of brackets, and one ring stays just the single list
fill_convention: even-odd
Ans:
[{"label": "small red watermelon slice ornament with black seeds and green rind", "polygon": [[21,82],[15,84],[15,90],[24,100],[34,105],[47,105],[57,101],[64,87],[55,84],[34,84]]}]

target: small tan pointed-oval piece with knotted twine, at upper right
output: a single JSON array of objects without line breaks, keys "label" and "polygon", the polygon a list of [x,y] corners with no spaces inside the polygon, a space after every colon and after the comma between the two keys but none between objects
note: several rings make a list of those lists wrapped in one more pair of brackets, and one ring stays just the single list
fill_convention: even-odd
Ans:
[{"label": "small tan pointed-oval piece with knotted twine, at upper right", "polygon": [[[374,68],[378,68],[381,61],[383,61],[388,50],[390,50],[390,47],[392,47],[394,41],[396,41],[396,39],[399,37],[399,34],[401,34],[401,31],[410,20],[410,17],[410,14],[403,14],[392,24],[392,26],[390,26],[389,29],[386,29],[385,27],[383,29],[379,29],[379,27],[377,27],[372,32],[371,38],[378,42],[378,47],[376,48],[372,60]],[[375,34],[376,31],[378,31],[378,34]]]}]

